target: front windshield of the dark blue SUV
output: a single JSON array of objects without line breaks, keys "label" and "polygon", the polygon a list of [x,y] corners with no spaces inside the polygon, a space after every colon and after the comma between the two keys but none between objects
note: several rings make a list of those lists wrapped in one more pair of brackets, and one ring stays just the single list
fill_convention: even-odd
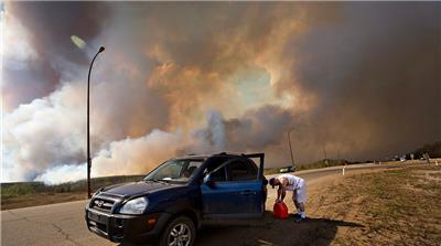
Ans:
[{"label": "front windshield of the dark blue SUV", "polygon": [[204,159],[170,160],[150,172],[143,180],[186,183],[203,162]]}]

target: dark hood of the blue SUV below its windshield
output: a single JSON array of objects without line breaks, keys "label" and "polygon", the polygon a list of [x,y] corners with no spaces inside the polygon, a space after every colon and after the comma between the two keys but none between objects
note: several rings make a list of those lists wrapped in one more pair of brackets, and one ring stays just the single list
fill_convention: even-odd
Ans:
[{"label": "dark hood of the blue SUV below its windshield", "polygon": [[130,182],[116,184],[111,186],[106,186],[101,190],[107,194],[122,195],[122,196],[132,196],[138,194],[148,194],[153,193],[161,190],[173,189],[176,186],[182,186],[183,184],[170,184],[163,182]]}]

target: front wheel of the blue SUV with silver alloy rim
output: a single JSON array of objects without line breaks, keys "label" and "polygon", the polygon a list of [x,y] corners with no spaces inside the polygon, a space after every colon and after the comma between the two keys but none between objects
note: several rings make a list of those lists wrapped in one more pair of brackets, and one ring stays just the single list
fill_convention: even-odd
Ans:
[{"label": "front wheel of the blue SUV with silver alloy rim", "polygon": [[169,223],[162,233],[160,246],[194,246],[196,227],[192,220],[179,216]]}]

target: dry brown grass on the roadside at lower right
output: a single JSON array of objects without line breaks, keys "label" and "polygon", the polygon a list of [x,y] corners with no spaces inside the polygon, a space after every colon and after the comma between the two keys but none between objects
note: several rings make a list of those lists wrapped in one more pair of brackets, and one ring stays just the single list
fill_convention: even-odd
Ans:
[{"label": "dry brown grass on the roadside at lower right", "polygon": [[[351,245],[440,245],[440,167],[411,167],[358,174],[329,192],[326,213],[352,217],[364,228],[337,237]],[[357,201],[357,202],[354,202]]]}]

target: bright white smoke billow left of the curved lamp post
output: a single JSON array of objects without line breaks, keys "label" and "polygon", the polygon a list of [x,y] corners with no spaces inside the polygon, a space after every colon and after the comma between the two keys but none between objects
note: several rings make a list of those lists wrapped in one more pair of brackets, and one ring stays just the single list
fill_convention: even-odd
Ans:
[{"label": "bright white smoke billow left of the curved lamp post", "polygon": [[45,169],[84,160],[82,89],[67,84],[4,115],[2,181],[32,180]]}]

